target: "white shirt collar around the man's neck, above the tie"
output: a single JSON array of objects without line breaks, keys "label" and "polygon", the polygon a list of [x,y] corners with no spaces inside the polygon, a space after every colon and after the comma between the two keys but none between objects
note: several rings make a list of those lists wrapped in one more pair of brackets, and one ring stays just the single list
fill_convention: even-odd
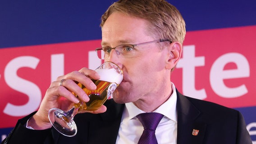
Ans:
[{"label": "white shirt collar around the man's neck, above the tie", "polygon": [[[157,108],[153,112],[158,112],[163,114],[165,117],[176,121],[177,122],[177,115],[176,115],[176,103],[177,103],[177,93],[175,89],[175,85],[172,83],[171,84],[173,93],[169,97],[169,99],[160,105],[159,108]],[[140,113],[144,113],[142,110],[137,108],[133,103],[125,103],[125,108],[123,111],[123,121],[128,121],[130,119],[133,119],[134,117]]]}]

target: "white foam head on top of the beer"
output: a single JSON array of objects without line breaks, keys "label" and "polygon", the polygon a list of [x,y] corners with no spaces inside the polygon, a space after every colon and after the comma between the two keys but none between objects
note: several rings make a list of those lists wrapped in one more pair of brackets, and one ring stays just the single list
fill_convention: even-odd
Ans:
[{"label": "white foam head on top of the beer", "polygon": [[123,75],[116,72],[114,69],[96,69],[101,81],[115,82],[118,85],[123,81]]}]

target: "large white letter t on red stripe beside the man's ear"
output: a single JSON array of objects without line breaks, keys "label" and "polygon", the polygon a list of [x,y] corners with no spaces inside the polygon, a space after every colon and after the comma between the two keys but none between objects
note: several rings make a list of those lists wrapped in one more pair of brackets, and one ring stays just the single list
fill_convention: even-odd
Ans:
[{"label": "large white letter t on red stripe beside the man's ear", "polygon": [[195,67],[204,66],[205,57],[195,57],[195,45],[183,47],[183,58],[177,64],[177,68],[182,70],[182,88],[184,95],[193,95],[197,99],[205,99],[206,91],[204,89],[196,90],[195,87]]}]

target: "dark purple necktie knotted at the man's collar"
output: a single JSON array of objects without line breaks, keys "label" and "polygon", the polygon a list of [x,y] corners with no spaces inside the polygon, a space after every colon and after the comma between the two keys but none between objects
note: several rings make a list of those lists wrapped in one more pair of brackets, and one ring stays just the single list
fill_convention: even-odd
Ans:
[{"label": "dark purple necktie knotted at the man's collar", "polygon": [[156,112],[147,112],[137,115],[137,118],[144,127],[138,144],[158,144],[155,137],[155,129],[163,117],[164,115]]}]

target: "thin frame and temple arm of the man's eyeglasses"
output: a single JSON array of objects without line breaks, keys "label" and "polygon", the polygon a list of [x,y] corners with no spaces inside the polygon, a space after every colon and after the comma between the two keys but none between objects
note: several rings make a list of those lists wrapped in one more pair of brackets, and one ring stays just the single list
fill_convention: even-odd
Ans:
[{"label": "thin frame and temple arm of the man's eyeglasses", "polygon": [[[152,40],[152,41],[147,41],[147,42],[143,42],[143,43],[139,43],[139,44],[134,44],[134,45],[132,45],[132,44],[122,44],[122,45],[131,45],[131,46],[133,47],[133,52],[134,52],[134,47],[135,47],[135,46],[146,45],[146,44],[151,44],[151,43],[155,43],[155,42],[165,42],[165,41],[169,41],[170,43],[172,43],[171,40],[168,40],[168,39],[160,39],[160,40]],[[98,58],[100,58],[100,56],[99,56],[99,54],[98,54],[98,51],[99,51],[99,50],[103,50],[103,48],[108,48],[108,49],[110,49],[110,52],[112,51],[112,49],[114,49],[115,52],[116,52],[116,54],[120,55],[120,52],[116,50],[116,48],[119,47],[119,46],[120,46],[120,45],[118,45],[118,46],[116,46],[116,47],[114,47],[114,48],[111,48],[111,47],[99,47],[99,48],[96,48],[95,51],[96,51],[96,53],[97,53]],[[104,60],[105,58],[100,58],[100,59]]]}]

